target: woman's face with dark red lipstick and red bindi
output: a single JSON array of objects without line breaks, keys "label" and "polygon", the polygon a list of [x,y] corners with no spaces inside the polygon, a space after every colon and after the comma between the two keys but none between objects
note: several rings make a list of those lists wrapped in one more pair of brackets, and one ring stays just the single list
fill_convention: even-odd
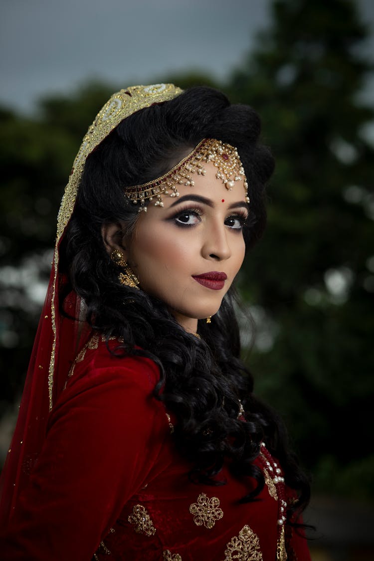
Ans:
[{"label": "woman's face with dark red lipstick and red bindi", "polygon": [[197,319],[214,315],[244,258],[243,222],[248,217],[243,182],[228,191],[205,164],[195,186],[178,186],[180,196],[163,196],[140,213],[126,258],[140,287],[167,304],[192,333]]}]

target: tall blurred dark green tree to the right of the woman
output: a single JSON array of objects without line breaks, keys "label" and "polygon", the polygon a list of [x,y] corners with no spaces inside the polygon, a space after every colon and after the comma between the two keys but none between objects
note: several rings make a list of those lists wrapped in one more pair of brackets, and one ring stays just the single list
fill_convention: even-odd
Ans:
[{"label": "tall blurred dark green tree to the right of the woman", "polygon": [[250,365],[316,486],[373,496],[368,30],[349,0],[275,0],[271,15],[229,87],[260,113],[276,158],[269,225],[241,280],[259,331]]}]

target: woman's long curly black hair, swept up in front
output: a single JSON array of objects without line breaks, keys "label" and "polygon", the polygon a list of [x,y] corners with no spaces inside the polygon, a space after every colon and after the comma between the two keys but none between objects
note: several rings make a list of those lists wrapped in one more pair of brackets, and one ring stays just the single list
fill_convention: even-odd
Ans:
[{"label": "woman's long curly black hair, swept up in front", "polygon": [[[119,268],[110,260],[101,236],[103,224],[121,221],[128,231],[136,224],[138,207],[126,199],[124,186],[153,180],[202,139],[214,138],[236,146],[244,166],[251,203],[243,235],[249,249],[265,228],[265,185],[274,168],[259,135],[260,119],[252,108],[230,105],[224,94],[204,87],[188,89],[124,119],[86,160],[61,247],[61,264],[66,266],[71,288],[85,301],[91,327],[108,338],[121,338],[117,353],[147,356],[159,366],[154,396],[176,416],[174,442],[192,462],[191,479],[223,483],[219,473],[229,459],[234,474],[257,481],[242,499],[252,500],[264,486],[264,477],[253,463],[264,440],[279,459],[286,484],[298,495],[297,507],[288,512],[290,518],[307,504],[309,484],[290,452],[283,423],[252,393],[252,376],[239,357],[233,289],[210,325],[198,321],[201,338],[196,338],[177,323],[162,301],[119,283]],[[239,400],[246,422],[237,419]]]}]

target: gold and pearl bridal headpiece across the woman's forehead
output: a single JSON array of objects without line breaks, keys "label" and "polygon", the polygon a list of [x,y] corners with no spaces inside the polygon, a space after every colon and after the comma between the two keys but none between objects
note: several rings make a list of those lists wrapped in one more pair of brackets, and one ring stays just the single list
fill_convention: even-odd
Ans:
[{"label": "gold and pearl bridal headpiece across the woman's forehead", "polygon": [[140,203],[139,211],[146,211],[145,201],[151,201],[154,197],[156,197],[155,206],[164,206],[162,195],[179,197],[178,185],[193,186],[195,184],[191,173],[205,175],[206,171],[202,162],[211,162],[215,165],[216,177],[224,183],[228,190],[233,188],[236,181],[243,181],[246,202],[250,202],[248,183],[238,150],[230,144],[224,144],[221,140],[215,139],[203,139],[186,158],[174,165],[163,176],[141,185],[124,187],[125,195],[134,204]]}]

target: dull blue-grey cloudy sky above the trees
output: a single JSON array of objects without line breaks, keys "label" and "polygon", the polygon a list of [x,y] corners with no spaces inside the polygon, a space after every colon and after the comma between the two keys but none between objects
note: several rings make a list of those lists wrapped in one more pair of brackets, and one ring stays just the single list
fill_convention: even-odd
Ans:
[{"label": "dull blue-grey cloudy sky above the trees", "polygon": [[[373,25],[374,0],[357,1]],[[0,103],[32,111],[39,96],[65,93],[90,78],[116,86],[162,81],[170,71],[224,78],[266,26],[269,4],[0,0]]]}]

